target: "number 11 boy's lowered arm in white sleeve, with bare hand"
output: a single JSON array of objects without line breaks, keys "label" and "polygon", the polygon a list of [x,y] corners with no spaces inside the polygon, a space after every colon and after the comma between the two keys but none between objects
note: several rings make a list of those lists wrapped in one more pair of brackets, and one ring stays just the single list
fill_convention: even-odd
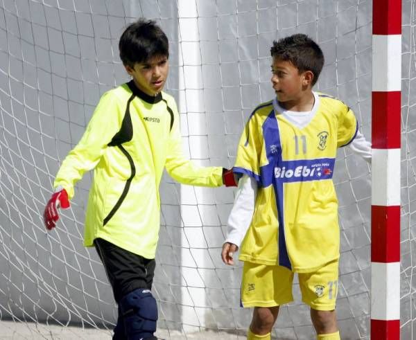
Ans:
[{"label": "number 11 boy's lowered arm in white sleeve, with bare hand", "polygon": [[227,238],[221,251],[221,258],[226,265],[234,265],[234,253],[239,249],[252,221],[256,195],[257,182],[252,177],[244,175],[239,181],[234,206],[228,217]]}]

